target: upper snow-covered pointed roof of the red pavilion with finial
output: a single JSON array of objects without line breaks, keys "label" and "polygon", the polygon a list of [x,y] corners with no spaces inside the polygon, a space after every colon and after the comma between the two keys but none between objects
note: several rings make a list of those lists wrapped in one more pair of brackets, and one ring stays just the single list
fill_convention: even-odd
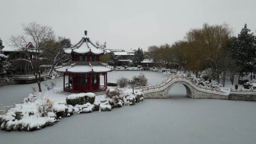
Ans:
[{"label": "upper snow-covered pointed roof of the red pavilion with finial", "polygon": [[85,54],[85,53],[92,53],[95,55],[102,55],[104,54],[104,50],[98,48],[94,43],[91,42],[89,37],[87,36],[87,31],[85,31],[85,37],[82,37],[82,39],[76,44],[71,46],[70,48],[64,50],[65,53],[79,53],[79,54]]}]

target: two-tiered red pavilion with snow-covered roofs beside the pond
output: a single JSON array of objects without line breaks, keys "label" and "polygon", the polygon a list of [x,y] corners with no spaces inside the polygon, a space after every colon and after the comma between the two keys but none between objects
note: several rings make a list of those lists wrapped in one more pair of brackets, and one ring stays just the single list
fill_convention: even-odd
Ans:
[{"label": "two-tiered red pavilion with snow-covered roofs beside the pond", "polygon": [[[75,93],[106,90],[107,72],[112,69],[99,61],[100,55],[105,52],[91,42],[87,31],[85,31],[85,37],[64,52],[72,55],[71,65],[56,69],[64,73],[64,91]],[[68,76],[67,83],[65,83],[65,76]],[[100,76],[104,76],[104,85],[100,85]]]}]

